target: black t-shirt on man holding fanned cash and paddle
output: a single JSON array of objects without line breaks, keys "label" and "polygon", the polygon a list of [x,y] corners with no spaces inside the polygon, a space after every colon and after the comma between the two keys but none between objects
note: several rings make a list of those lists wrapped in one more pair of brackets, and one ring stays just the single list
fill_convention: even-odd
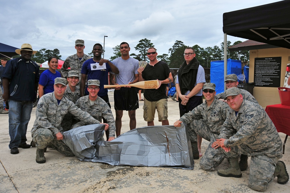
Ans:
[{"label": "black t-shirt on man holding fanned cash and paddle", "polygon": [[[144,71],[142,72],[142,77],[146,81],[156,79],[162,81],[169,77],[169,73],[170,73],[169,66],[165,62],[159,61],[154,66],[148,63]],[[144,97],[148,101],[159,101],[160,99],[167,99],[166,85],[167,84],[162,84],[157,90],[145,89]]]}]

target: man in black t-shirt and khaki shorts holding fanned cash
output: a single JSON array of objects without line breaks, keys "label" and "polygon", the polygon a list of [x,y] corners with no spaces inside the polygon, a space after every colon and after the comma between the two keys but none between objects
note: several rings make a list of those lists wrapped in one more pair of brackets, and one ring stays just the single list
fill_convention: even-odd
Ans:
[{"label": "man in black t-shirt and khaki shorts holding fanned cash", "polygon": [[155,109],[158,113],[158,121],[162,125],[169,125],[167,114],[166,85],[173,80],[168,65],[165,62],[157,60],[156,49],[151,47],[147,51],[147,57],[150,60],[144,68],[138,69],[139,81],[158,80],[159,87],[156,89],[145,89],[144,91],[144,120],[148,126],[154,125]]}]

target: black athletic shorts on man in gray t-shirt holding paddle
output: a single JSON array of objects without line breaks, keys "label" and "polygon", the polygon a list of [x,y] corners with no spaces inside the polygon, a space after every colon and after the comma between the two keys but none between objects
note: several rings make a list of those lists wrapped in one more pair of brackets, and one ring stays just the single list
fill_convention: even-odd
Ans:
[{"label": "black athletic shorts on man in gray t-shirt holding paddle", "polygon": [[138,93],[135,87],[124,88],[114,91],[115,110],[136,110],[139,108]]}]

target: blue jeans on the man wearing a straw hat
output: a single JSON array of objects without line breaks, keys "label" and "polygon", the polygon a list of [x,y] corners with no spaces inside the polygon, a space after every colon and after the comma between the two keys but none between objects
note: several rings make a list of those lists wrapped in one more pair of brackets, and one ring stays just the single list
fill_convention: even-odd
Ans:
[{"label": "blue jeans on the man wearing a straw hat", "polygon": [[27,125],[33,107],[32,101],[13,101],[9,100],[9,148],[18,147],[26,143]]}]

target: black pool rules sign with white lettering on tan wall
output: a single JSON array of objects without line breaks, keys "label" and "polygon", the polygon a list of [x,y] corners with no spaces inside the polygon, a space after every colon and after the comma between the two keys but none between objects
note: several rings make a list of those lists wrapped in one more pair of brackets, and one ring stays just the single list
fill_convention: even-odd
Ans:
[{"label": "black pool rules sign with white lettering on tan wall", "polygon": [[280,87],[281,58],[255,58],[254,83],[261,87]]}]

